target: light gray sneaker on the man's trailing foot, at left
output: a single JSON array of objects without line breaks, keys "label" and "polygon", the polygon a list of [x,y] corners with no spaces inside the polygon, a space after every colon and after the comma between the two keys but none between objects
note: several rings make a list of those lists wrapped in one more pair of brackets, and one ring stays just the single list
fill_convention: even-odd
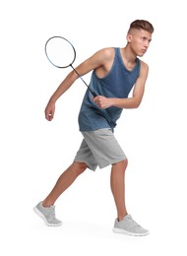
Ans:
[{"label": "light gray sneaker on the man's trailing foot, at left", "polygon": [[42,202],[40,202],[33,208],[33,211],[47,225],[58,226],[62,224],[62,222],[55,217],[55,206],[43,207]]}]

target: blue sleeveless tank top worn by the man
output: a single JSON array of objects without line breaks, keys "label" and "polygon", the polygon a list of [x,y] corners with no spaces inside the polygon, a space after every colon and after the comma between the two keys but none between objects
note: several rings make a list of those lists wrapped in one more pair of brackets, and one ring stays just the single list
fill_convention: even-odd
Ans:
[{"label": "blue sleeveless tank top worn by the man", "polygon": [[[126,98],[140,75],[140,60],[137,58],[135,67],[129,71],[123,63],[120,48],[114,49],[115,56],[110,71],[104,78],[98,78],[93,71],[90,87],[97,96]],[[102,109],[94,103],[92,98],[92,93],[87,90],[79,113],[80,131],[94,131],[102,128],[113,130],[123,108],[111,106]]]}]

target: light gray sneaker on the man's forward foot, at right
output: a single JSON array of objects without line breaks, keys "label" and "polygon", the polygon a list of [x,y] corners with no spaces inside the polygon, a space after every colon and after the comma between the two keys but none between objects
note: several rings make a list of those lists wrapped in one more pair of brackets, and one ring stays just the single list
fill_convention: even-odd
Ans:
[{"label": "light gray sneaker on the man's forward foot, at right", "polygon": [[137,224],[130,215],[123,218],[122,221],[115,220],[113,231],[116,233],[124,233],[135,236],[143,236],[149,234],[149,230]]}]

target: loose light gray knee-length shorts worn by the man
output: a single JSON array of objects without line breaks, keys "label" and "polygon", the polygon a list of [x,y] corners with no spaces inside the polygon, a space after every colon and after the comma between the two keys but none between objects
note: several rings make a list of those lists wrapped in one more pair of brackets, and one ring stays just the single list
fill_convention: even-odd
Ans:
[{"label": "loose light gray knee-length shorts worn by the man", "polygon": [[126,156],[115,139],[111,129],[99,129],[91,132],[82,132],[84,140],[75,157],[75,161],[85,162],[95,170],[109,164],[126,160]]}]

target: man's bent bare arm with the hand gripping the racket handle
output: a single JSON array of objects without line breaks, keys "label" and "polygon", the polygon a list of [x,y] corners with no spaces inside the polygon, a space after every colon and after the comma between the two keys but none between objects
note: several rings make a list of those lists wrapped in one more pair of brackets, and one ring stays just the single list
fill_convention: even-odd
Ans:
[{"label": "man's bent bare arm with the hand gripping the racket handle", "polygon": [[139,107],[145,92],[145,85],[148,78],[149,67],[145,62],[141,62],[140,76],[136,81],[133,90],[133,96],[128,98],[109,98],[105,96],[94,97],[94,102],[100,108],[108,108],[110,106],[117,106],[120,108],[137,108]]}]

